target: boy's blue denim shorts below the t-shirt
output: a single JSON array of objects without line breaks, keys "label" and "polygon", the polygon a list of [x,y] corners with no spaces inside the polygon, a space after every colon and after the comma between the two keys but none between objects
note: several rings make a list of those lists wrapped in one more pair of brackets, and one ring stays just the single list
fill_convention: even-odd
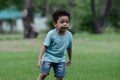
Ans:
[{"label": "boy's blue denim shorts below the t-shirt", "polygon": [[65,73],[66,73],[65,62],[53,63],[53,62],[43,61],[42,66],[41,66],[41,72],[42,73],[45,72],[49,74],[51,67],[53,67],[55,77],[63,78],[65,76]]}]

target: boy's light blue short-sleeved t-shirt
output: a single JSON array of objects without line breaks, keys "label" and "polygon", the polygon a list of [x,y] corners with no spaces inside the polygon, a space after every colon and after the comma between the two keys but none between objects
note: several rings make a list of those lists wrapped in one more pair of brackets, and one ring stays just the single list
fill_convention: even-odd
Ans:
[{"label": "boy's light blue short-sleeved t-shirt", "polygon": [[72,48],[72,34],[68,30],[64,36],[58,35],[56,29],[48,32],[44,45],[46,51],[42,61],[65,62],[65,53],[67,48]]}]

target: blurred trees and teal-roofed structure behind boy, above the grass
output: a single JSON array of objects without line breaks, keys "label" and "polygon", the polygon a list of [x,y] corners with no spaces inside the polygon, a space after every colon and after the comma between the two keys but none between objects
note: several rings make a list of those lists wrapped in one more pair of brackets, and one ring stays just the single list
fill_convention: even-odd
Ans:
[{"label": "blurred trees and teal-roofed structure behind boy, above the grass", "polygon": [[57,9],[71,14],[73,34],[120,33],[119,8],[119,0],[0,0],[0,34],[37,38],[54,28],[51,15]]}]

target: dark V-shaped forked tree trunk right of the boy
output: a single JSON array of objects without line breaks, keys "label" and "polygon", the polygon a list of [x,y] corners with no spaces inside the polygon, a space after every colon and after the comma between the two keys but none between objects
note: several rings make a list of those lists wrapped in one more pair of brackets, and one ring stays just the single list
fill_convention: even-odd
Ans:
[{"label": "dark V-shaped forked tree trunk right of the boy", "polygon": [[101,10],[101,20],[98,20],[96,13],[95,0],[91,0],[91,10],[93,15],[93,23],[96,34],[103,33],[104,24],[108,18],[111,8],[111,0],[103,0],[102,10]]}]

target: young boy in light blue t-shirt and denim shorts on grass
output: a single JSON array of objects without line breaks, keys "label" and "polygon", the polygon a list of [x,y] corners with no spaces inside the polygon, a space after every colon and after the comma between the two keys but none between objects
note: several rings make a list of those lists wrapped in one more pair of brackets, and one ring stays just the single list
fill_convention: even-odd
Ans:
[{"label": "young boy in light blue t-shirt and denim shorts on grass", "polygon": [[[55,29],[48,32],[43,43],[38,58],[38,67],[41,66],[41,73],[37,80],[44,80],[49,75],[51,67],[53,67],[56,80],[63,80],[66,65],[71,65],[72,34],[67,30],[70,14],[64,10],[57,10],[52,16]],[[67,62],[65,61],[66,51],[68,53]]]}]

